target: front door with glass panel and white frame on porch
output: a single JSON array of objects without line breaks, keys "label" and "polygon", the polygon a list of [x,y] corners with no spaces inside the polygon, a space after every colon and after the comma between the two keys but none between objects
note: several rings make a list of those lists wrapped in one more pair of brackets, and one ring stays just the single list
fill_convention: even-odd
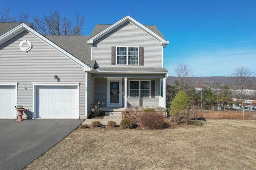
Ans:
[{"label": "front door with glass panel and white frame on porch", "polygon": [[120,80],[110,80],[109,81],[109,97],[108,104],[111,107],[121,106],[121,82]]}]

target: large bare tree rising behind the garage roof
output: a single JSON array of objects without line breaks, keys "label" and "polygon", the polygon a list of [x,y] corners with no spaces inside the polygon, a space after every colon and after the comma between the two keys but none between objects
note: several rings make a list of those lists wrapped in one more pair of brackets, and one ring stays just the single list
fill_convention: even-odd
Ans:
[{"label": "large bare tree rising behind the garage roof", "polygon": [[43,14],[43,18],[33,17],[33,20],[36,31],[42,35],[80,35],[85,15],[76,14],[76,25],[68,18],[62,18],[58,11],[50,12],[48,16]]}]

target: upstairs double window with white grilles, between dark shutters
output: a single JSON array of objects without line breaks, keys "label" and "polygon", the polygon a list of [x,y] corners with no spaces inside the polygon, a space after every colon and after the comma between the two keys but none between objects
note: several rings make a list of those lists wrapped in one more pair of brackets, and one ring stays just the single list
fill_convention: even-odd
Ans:
[{"label": "upstairs double window with white grilles, between dark shutters", "polygon": [[117,47],[116,64],[138,65],[138,47]]}]

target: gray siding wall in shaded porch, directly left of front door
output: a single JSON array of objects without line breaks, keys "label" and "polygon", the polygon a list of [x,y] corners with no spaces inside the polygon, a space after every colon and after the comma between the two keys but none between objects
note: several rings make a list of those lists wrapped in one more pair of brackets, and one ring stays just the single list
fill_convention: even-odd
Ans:
[{"label": "gray siding wall in shaded porch, directly left of front door", "polygon": [[107,78],[95,78],[95,104],[104,102],[103,107],[108,106],[108,80]]}]

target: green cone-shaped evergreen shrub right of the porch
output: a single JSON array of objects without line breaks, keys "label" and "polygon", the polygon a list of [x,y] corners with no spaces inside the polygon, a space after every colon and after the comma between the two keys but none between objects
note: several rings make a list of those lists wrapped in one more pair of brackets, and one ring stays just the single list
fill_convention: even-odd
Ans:
[{"label": "green cone-shaped evergreen shrub right of the porch", "polygon": [[171,107],[170,107],[170,116],[175,114],[180,114],[181,110],[187,109],[187,106],[189,104],[188,96],[181,90],[172,101]]}]

